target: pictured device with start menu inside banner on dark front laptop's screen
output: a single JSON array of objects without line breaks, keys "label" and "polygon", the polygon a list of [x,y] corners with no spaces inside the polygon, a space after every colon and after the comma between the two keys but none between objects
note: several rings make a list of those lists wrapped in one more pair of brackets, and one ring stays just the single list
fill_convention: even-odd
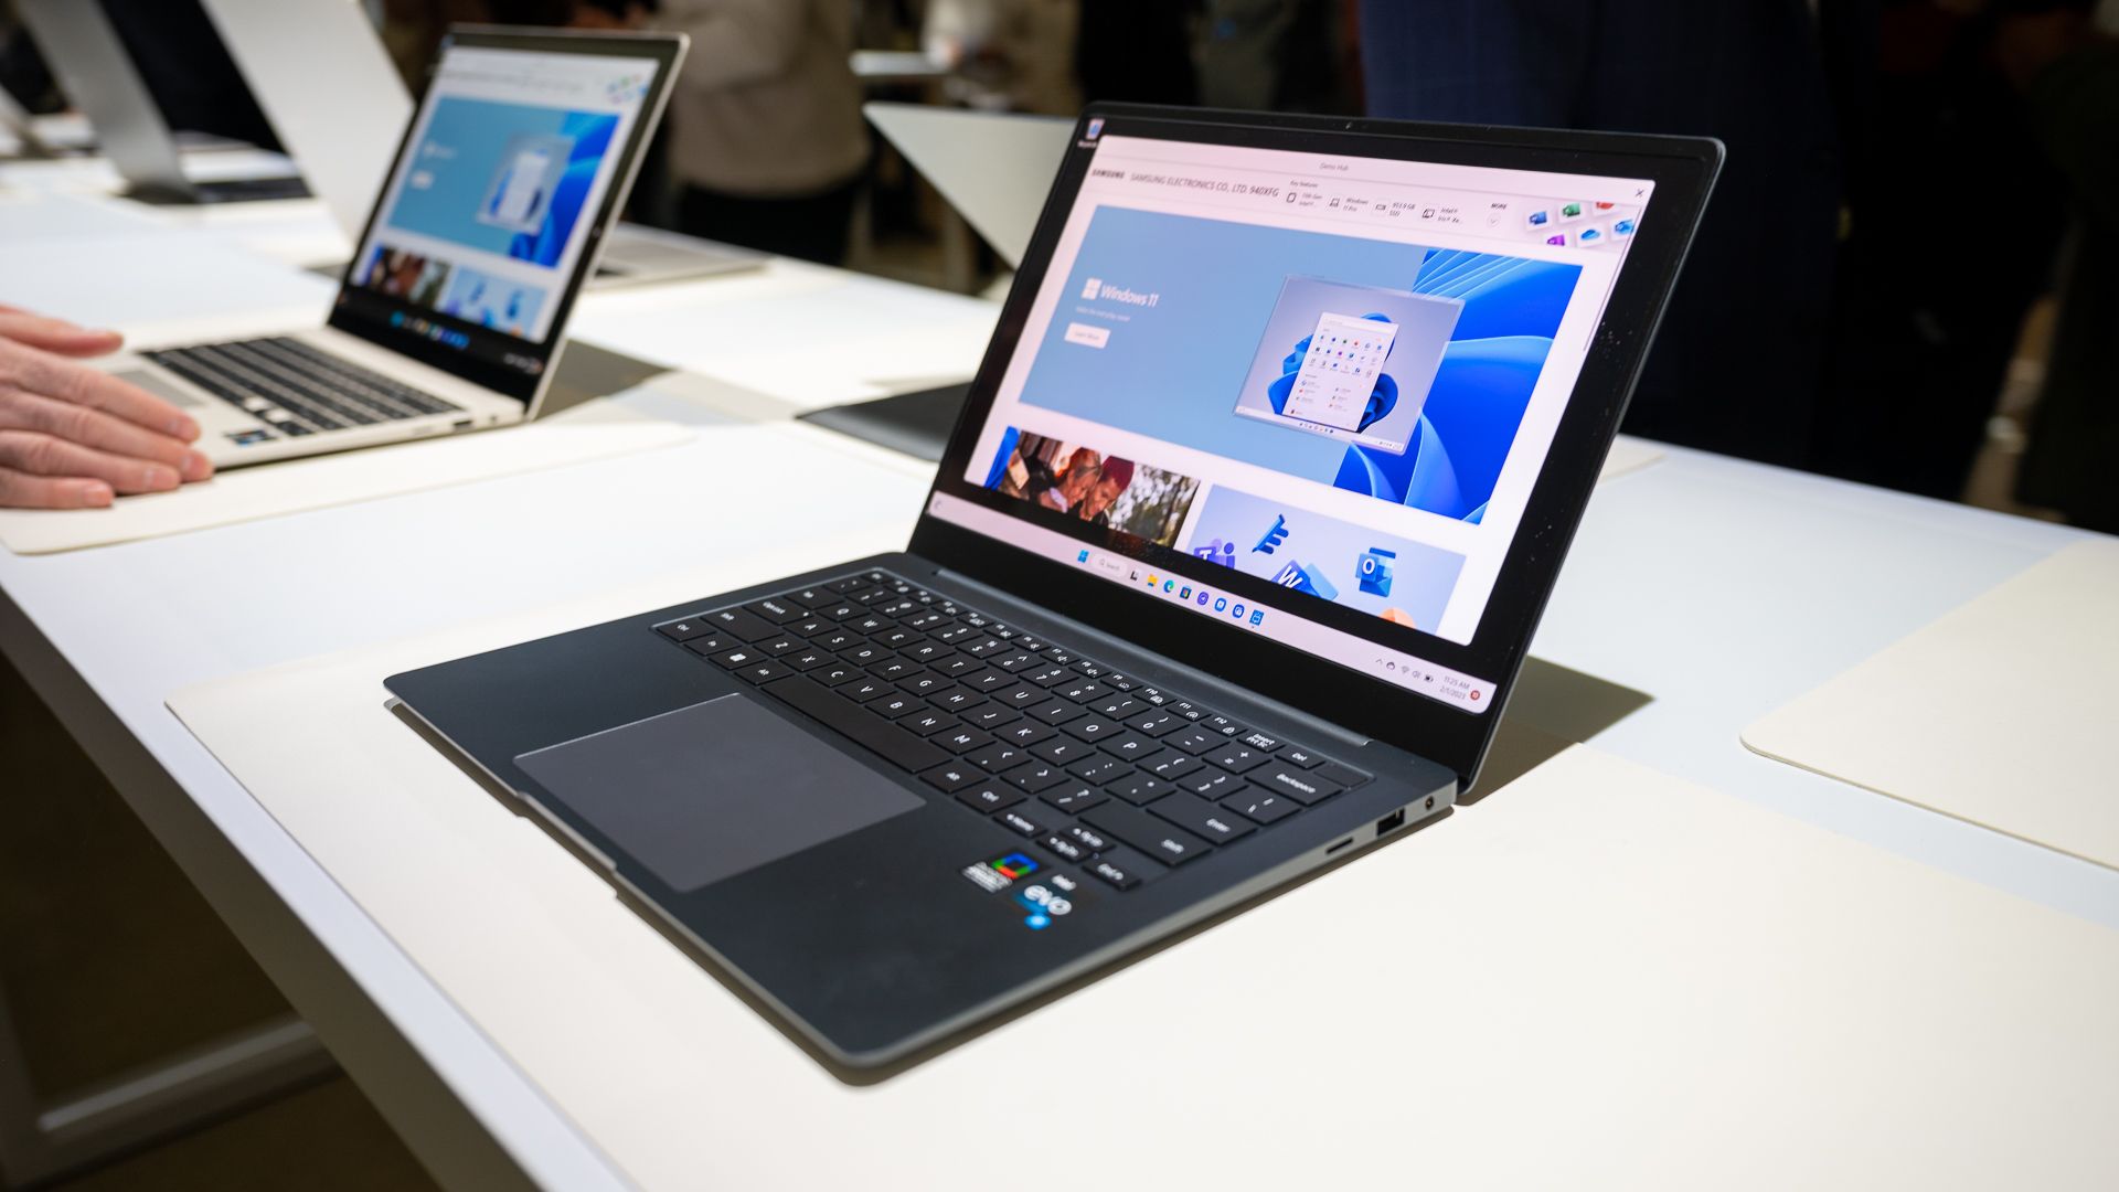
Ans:
[{"label": "pictured device with start menu inside banner on dark front laptop's screen", "polygon": [[1235,411],[1403,456],[1464,299],[1286,278]]}]

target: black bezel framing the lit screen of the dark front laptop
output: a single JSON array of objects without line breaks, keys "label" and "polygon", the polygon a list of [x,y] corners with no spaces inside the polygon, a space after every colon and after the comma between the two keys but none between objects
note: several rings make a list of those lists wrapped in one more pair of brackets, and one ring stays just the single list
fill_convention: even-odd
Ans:
[{"label": "black bezel framing the lit screen of the dark front laptop", "polygon": [[[1288,613],[1490,679],[1494,696],[1483,713],[1460,711],[1261,634],[1246,634],[1216,619],[1193,615],[1142,592],[1125,592],[1108,579],[932,513],[932,496],[949,494],[1013,518],[1028,513],[1026,522],[1060,530],[1083,545],[1121,547],[1119,537],[1110,530],[1026,509],[1017,501],[964,479],[981,428],[994,407],[1000,378],[1017,352],[1032,301],[1045,284],[1060,233],[1074,208],[1089,161],[1096,157],[1093,140],[1085,136],[1089,119],[1104,121],[1104,136],[1572,172],[1653,182],[1646,218],[1627,248],[1625,267],[1606,301],[1589,358],[1568,399],[1551,452],[1530,492],[1521,524],[1473,638],[1458,645],[1324,600],[1307,600],[1301,607],[1286,602],[1284,594],[1276,600]],[[1640,375],[1640,365],[1719,165],[1721,144],[1704,138],[1348,121],[1132,104],[1091,106],[1083,112],[1074,140],[1062,159],[1030,252],[1009,291],[994,339],[949,437],[909,549],[981,583],[1066,611],[1098,630],[1134,641],[1201,672],[1449,766],[1460,783],[1471,785],[1500,723],[1530,634],[1557,581],[1560,560],[1581,524],[1610,439],[1617,435],[1619,418]],[[1176,551],[1165,551],[1165,558],[1157,560],[1157,568],[1212,583],[1231,594],[1244,594],[1246,585],[1267,583],[1257,577],[1231,577],[1225,566],[1191,560]],[[1257,590],[1261,598],[1267,594],[1271,594],[1269,588]]]}]

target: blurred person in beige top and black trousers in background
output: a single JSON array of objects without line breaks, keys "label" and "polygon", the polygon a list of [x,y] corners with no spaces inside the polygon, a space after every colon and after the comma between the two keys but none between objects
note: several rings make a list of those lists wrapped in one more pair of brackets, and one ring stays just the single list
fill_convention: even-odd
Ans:
[{"label": "blurred person in beige top and black trousers in background", "polygon": [[678,227],[784,257],[845,261],[869,161],[850,0],[663,0],[691,34],[670,98]]}]

